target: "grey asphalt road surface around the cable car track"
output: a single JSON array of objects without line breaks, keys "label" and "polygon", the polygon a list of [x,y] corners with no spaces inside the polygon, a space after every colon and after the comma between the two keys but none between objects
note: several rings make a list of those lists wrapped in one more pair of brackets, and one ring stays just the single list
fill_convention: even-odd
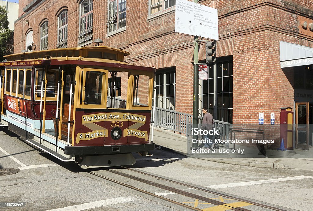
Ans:
[{"label": "grey asphalt road surface around the cable car track", "polygon": [[[91,175],[73,163],[60,162],[3,131],[0,131],[0,147],[0,168],[19,169],[16,174],[0,176],[0,210],[189,210]],[[312,171],[236,166],[187,158],[164,150],[154,150],[152,153],[152,157],[138,156],[137,163],[129,167],[261,203],[303,211],[313,209]],[[121,168],[115,170],[122,171]],[[96,172],[134,186],[138,184],[151,193],[198,209],[213,210],[212,204],[110,175],[107,168]],[[214,200],[233,203],[223,197]],[[3,205],[22,202],[25,203],[22,207]]]}]

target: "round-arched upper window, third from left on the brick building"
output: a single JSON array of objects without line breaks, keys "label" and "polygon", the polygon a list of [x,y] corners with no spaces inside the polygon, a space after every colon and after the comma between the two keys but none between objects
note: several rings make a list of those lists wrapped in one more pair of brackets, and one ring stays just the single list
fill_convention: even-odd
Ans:
[{"label": "round-arched upper window, third from left on the brick building", "polygon": [[67,10],[58,16],[58,43],[57,48],[67,48]]}]

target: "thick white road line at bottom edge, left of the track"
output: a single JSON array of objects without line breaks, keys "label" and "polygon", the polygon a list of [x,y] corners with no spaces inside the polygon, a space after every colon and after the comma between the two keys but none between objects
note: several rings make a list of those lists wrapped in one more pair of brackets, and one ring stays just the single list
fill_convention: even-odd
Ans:
[{"label": "thick white road line at bottom edge, left of the track", "polygon": [[46,211],[80,211],[80,210],[86,210],[86,209],[91,209],[91,208],[108,206],[108,205],[111,205],[111,204],[132,202],[132,201],[135,201],[136,199],[137,199],[137,197],[132,197],[132,196],[119,197],[119,198],[110,198],[110,199],[105,199],[105,200],[96,201],[96,202],[77,204],[77,205],[69,206],[69,207],[50,209],[50,210],[46,210]]}]

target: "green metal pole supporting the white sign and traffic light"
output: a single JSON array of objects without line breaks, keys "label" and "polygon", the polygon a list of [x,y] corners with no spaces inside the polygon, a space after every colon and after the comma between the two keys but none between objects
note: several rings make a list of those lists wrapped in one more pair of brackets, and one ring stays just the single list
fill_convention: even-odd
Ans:
[{"label": "green metal pole supporting the white sign and traffic light", "polygon": [[[198,3],[198,0],[193,0],[194,3]],[[199,71],[198,71],[198,36],[194,36],[193,42],[193,112],[192,112],[192,126],[198,127],[199,118]],[[193,139],[198,139],[198,135],[192,135]],[[197,147],[197,143],[192,143],[192,148]]]}]

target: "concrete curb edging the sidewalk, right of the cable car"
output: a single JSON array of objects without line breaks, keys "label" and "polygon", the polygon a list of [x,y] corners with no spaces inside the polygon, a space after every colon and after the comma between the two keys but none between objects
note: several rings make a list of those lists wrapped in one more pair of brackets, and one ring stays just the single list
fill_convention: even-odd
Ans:
[{"label": "concrete curb edging the sidewalk, right of the cable car", "polygon": [[[156,146],[161,146],[158,144],[155,144]],[[279,163],[269,163],[269,162],[264,162],[264,163],[259,163],[259,162],[249,162],[249,161],[236,161],[236,160],[225,160],[225,159],[220,159],[220,158],[203,158],[196,156],[194,154],[178,151],[178,150],[173,150],[165,146],[161,146],[161,150],[164,149],[166,151],[171,151],[175,152],[177,154],[187,156],[187,157],[193,157],[201,160],[206,160],[206,161],[213,161],[213,162],[219,162],[219,163],[227,163],[227,164],[233,164],[233,165],[242,165],[242,166],[252,166],[252,167],[262,167],[262,168],[284,168],[285,165],[279,164]]]}]

